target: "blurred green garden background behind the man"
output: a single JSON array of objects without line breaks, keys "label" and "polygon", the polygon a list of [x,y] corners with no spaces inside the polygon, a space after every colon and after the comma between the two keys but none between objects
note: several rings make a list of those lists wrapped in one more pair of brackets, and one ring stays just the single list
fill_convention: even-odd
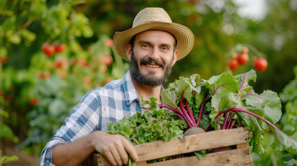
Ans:
[{"label": "blurred green garden background behind the man", "polygon": [[[254,68],[255,57],[264,57],[267,70],[257,71],[253,87],[280,94],[284,116],[278,126],[295,133],[297,1],[264,2],[264,18],[251,19],[238,15],[244,3],[231,0],[1,0],[0,158],[15,160],[7,155],[13,145],[38,159],[85,93],[122,77],[129,62],[116,55],[111,39],[146,7],[164,8],[195,35],[192,52],[174,65],[169,82],[193,73],[204,79],[224,71],[237,75]],[[231,70],[228,59],[243,46],[249,48],[249,62]],[[297,156],[267,147],[266,154],[253,154],[254,165],[297,165]],[[32,161],[19,158],[6,165],[39,165]]]}]

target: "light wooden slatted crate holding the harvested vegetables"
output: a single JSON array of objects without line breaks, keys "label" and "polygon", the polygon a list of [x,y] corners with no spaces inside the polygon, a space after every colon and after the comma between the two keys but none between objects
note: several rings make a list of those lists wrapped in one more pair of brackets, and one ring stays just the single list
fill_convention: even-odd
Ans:
[{"label": "light wooden slatted crate holding the harvested vegetables", "polygon": [[[134,145],[134,147],[139,158],[137,165],[252,165],[248,139],[249,131],[240,127],[199,133],[185,136],[182,139],[172,138],[169,142],[163,140],[147,142],[141,145]],[[206,154],[203,160],[199,160],[197,156],[187,156],[147,164],[148,160],[156,158],[226,146],[233,146],[235,149]],[[109,166],[110,164],[105,156],[94,153],[84,161],[83,165]]]}]

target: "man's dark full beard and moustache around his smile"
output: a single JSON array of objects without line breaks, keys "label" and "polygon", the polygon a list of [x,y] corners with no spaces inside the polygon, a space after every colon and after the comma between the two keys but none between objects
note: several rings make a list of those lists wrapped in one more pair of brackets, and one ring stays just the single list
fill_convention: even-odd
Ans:
[{"label": "man's dark full beard and moustache around his smile", "polygon": [[154,71],[150,71],[147,75],[144,75],[140,71],[140,66],[137,64],[137,60],[134,56],[134,52],[132,51],[132,59],[131,59],[131,65],[130,65],[130,71],[132,74],[133,79],[138,83],[138,84],[143,84],[151,87],[156,87],[164,84],[165,82],[168,82],[168,77],[172,72],[172,63],[173,63],[173,57],[171,59],[170,64],[168,66],[165,66],[165,63],[163,61],[157,60],[154,61],[150,57],[145,57],[145,59],[141,59],[140,65],[145,65],[145,64],[154,64],[159,65],[163,70],[163,77],[156,77],[154,75]]}]

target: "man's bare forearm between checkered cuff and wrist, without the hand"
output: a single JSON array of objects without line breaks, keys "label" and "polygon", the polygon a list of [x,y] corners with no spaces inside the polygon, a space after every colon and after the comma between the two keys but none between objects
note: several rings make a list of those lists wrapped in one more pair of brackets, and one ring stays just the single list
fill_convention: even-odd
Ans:
[{"label": "man's bare forearm between checkered cuff and wrist, without the hand", "polygon": [[[103,131],[96,132],[100,133]],[[95,148],[92,144],[94,138],[93,134],[94,133],[84,136],[78,140],[75,140],[75,142],[53,147],[53,164],[56,166],[80,165],[93,153],[93,151],[95,151]]]}]

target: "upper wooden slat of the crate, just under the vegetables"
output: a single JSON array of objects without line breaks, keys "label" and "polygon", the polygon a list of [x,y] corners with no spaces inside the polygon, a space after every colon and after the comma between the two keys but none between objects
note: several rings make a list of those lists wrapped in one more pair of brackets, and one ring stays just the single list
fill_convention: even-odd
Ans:
[{"label": "upper wooden slat of the crate, just under the vegetables", "polygon": [[158,140],[135,145],[139,161],[153,160],[165,156],[186,154],[192,151],[226,147],[248,142],[249,131],[242,127],[237,129],[210,131],[198,135],[185,136],[182,139],[172,138],[170,142]]}]

